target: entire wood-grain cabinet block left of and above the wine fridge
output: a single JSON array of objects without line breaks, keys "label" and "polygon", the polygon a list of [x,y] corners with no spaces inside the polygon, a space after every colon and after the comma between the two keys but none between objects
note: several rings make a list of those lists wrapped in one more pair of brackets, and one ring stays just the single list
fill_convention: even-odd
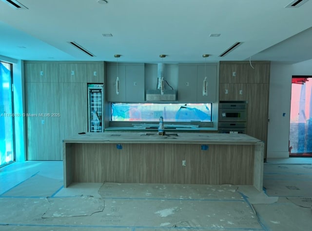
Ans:
[{"label": "entire wood-grain cabinet block left of and above the wine fridge", "polygon": [[27,160],[62,160],[62,140],[88,131],[87,83],[104,83],[103,62],[25,61]]}]

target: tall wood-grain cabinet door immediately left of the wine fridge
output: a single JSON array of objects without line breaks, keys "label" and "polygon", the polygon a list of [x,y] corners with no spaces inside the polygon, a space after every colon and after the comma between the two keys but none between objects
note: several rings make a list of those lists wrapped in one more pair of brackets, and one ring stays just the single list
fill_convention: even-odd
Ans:
[{"label": "tall wood-grain cabinet door immediately left of the wine fridge", "polygon": [[[87,84],[62,83],[60,92],[60,143],[66,137],[88,131]],[[61,159],[63,156],[61,156]]]}]

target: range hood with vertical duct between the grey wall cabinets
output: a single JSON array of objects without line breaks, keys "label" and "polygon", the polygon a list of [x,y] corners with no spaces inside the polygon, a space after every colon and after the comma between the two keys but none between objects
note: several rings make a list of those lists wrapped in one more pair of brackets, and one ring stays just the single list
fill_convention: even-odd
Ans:
[{"label": "range hood with vertical duct between the grey wall cabinets", "polygon": [[157,65],[157,89],[146,90],[146,101],[176,101],[176,90],[163,90],[161,94],[161,78],[163,77],[164,63],[158,63]]}]

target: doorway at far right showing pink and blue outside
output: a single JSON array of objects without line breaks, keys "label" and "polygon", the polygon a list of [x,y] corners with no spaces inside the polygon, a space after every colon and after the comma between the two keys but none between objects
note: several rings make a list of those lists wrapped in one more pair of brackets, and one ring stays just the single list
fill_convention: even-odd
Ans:
[{"label": "doorway at far right showing pink and blue outside", "polygon": [[292,76],[289,156],[312,157],[312,76]]}]

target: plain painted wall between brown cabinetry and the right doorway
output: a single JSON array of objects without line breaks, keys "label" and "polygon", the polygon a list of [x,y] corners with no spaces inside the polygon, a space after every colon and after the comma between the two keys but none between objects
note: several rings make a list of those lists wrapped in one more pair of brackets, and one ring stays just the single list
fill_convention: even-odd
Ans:
[{"label": "plain painted wall between brown cabinetry and the right doorway", "polygon": [[267,158],[289,157],[292,75],[312,75],[312,60],[271,63]]}]

